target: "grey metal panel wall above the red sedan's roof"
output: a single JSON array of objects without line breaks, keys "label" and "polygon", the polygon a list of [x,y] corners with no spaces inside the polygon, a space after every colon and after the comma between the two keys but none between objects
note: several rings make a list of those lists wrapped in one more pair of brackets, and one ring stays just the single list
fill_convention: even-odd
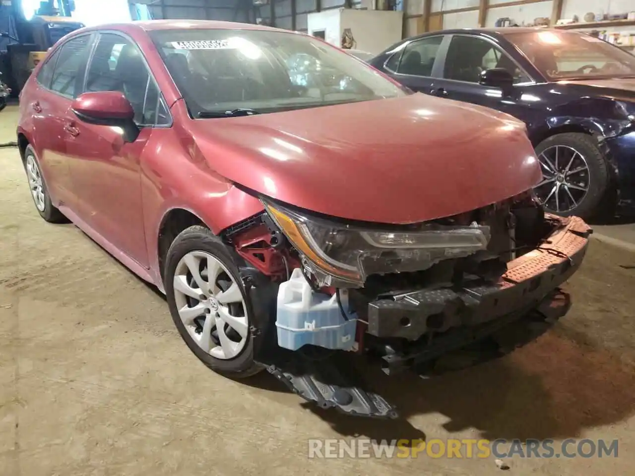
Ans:
[{"label": "grey metal panel wall above the red sedan's roof", "polygon": [[229,20],[255,23],[262,18],[268,25],[288,30],[307,30],[307,14],[331,8],[362,8],[362,0],[130,0],[148,5],[154,18],[189,20]]}]

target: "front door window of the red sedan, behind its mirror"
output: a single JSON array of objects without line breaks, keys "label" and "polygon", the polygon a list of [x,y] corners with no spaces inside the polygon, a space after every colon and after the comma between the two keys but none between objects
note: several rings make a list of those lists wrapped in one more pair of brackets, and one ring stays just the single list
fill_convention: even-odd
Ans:
[{"label": "front door window of the red sedan, behind its mirror", "polygon": [[135,110],[135,122],[144,126],[170,122],[159,88],[141,51],[129,39],[101,34],[86,72],[86,91],[121,91]]}]

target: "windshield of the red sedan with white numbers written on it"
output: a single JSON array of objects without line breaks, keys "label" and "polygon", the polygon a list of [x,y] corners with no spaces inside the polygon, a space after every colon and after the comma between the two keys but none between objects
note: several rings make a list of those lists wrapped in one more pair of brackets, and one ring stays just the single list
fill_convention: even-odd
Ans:
[{"label": "windshield of the red sedan with white numbers written on it", "polygon": [[152,39],[193,117],[254,114],[407,95],[328,44],[268,30],[156,30]]}]

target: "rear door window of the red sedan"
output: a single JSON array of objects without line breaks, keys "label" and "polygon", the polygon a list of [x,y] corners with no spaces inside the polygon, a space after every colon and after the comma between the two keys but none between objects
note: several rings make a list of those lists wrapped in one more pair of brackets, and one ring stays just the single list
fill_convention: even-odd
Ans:
[{"label": "rear door window of the red sedan", "polygon": [[[90,53],[91,37],[78,36],[62,45],[57,53],[51,90],[69,98],[75,98],[81,90],[86,58]],[[47,62],[48,63],[48,62]]]}]

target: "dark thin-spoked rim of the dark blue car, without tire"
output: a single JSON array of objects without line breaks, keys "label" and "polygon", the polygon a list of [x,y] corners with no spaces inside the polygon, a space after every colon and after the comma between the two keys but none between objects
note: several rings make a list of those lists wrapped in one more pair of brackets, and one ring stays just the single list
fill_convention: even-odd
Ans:
[{"label": "dark thin-spoked rim of the dark blue car, without tire", "polygon": [[538,155],[542,182],[534,188],[545,209],[572,211],[589,192],[589,165],[584,155],[568,145],[552,145]]}]

